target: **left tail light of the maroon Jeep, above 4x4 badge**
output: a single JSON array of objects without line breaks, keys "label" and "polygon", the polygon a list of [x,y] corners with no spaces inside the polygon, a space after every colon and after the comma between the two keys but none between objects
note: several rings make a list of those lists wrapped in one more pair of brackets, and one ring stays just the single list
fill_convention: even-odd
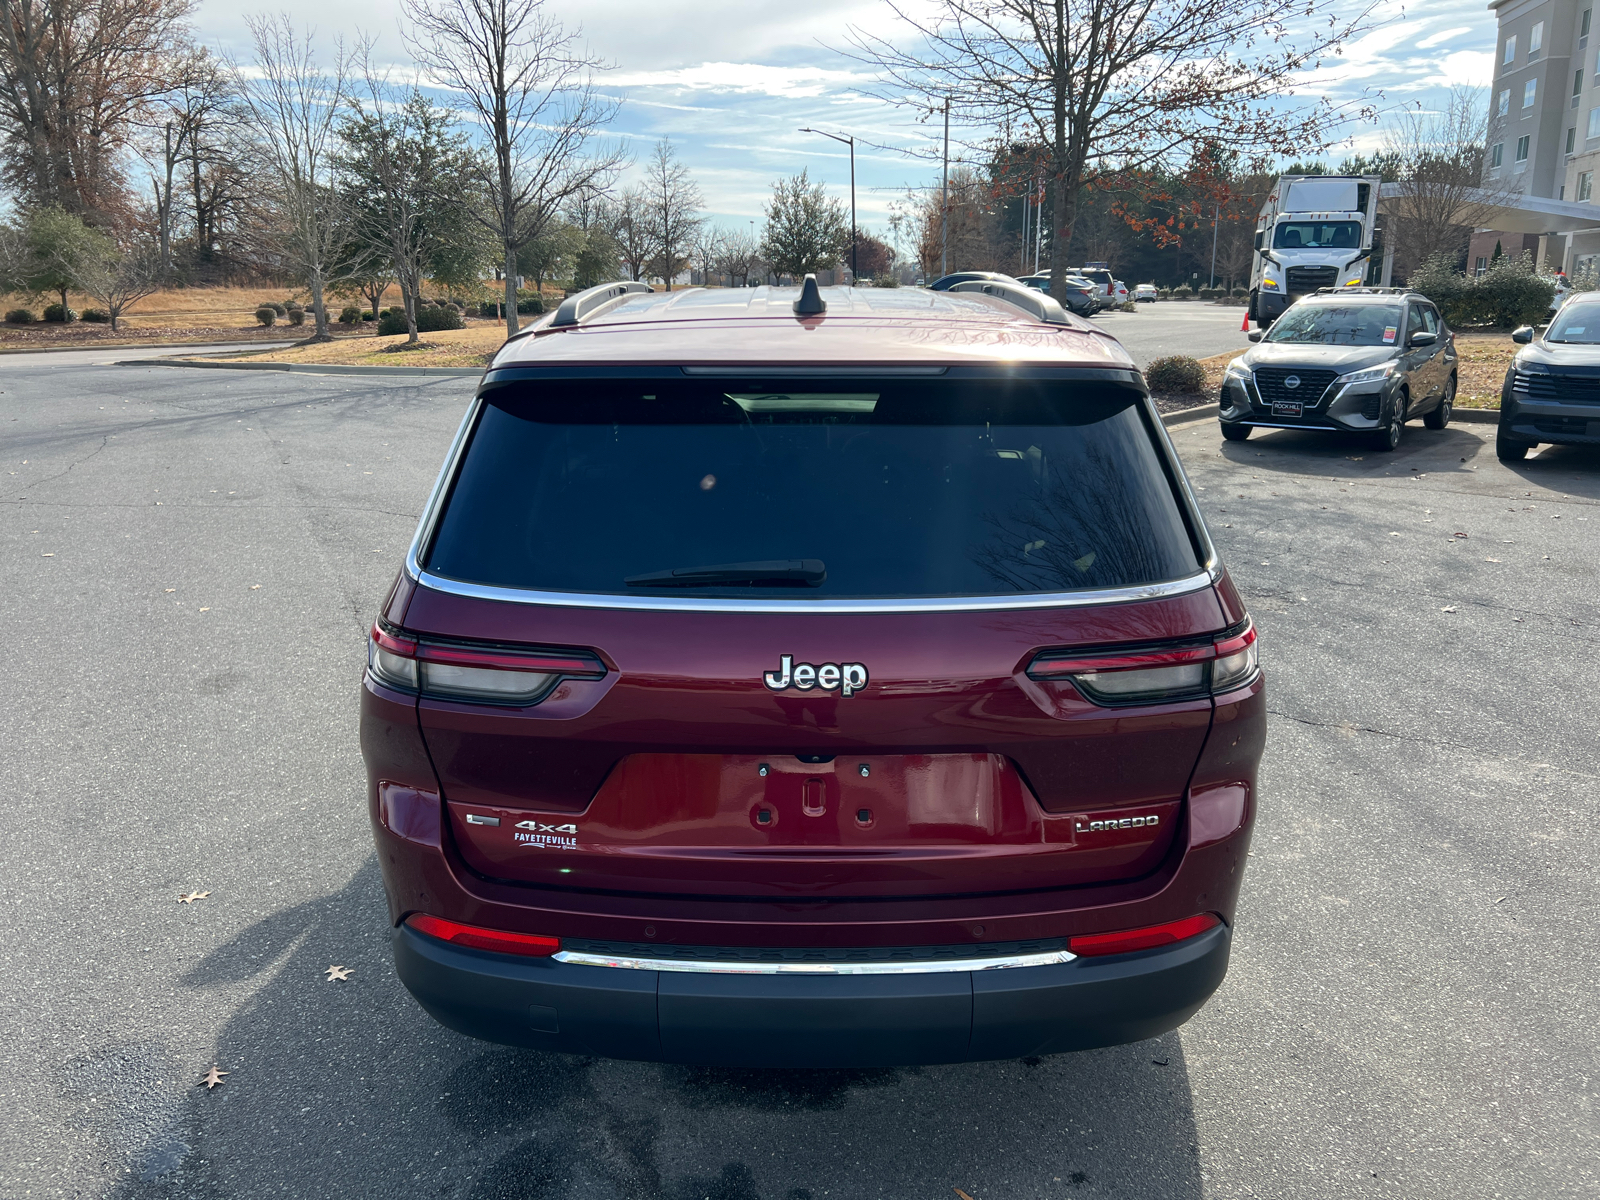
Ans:
[{"label": "left tail light of the maroon Jeep, above 4x4 badge", "polygon": [[430,642],[382,624],[366,642],[366,667],[389,688],[515,706],[538,704],[563,678],[605,678],[605,664],[584,650]]}]

